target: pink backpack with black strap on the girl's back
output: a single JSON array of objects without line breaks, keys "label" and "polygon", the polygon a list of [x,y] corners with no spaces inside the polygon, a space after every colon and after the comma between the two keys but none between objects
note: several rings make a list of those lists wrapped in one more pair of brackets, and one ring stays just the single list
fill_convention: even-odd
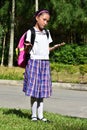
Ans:
[{"label": "pink backpack with black strap on the girl's back", "polygon": [[[35,40],[35,29],[30,28],[31,30],[31,44],[33,46],[34,40]],[[16,48],[16,55],[17,55],[17,64],[19,67],[25,68],[27,64],[27,60],[29,59],[29,54],[27,54],[24,50],[24,42],[26,40],[27,32],[25,32],[18,43],[18,46]]]}]

